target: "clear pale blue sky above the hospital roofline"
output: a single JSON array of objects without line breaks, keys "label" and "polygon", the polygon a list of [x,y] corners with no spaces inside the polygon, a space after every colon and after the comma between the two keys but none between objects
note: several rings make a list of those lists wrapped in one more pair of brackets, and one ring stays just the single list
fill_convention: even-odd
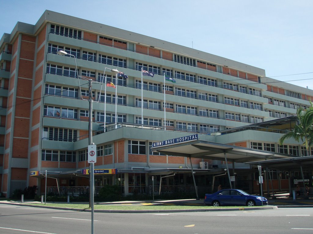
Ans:
[{"label": "clear pale blue sky above the hospital roofline", "polygon": [[170,41],[262,68],[313,89],[310,0],[0,0],[0,37],[45,10]]}]

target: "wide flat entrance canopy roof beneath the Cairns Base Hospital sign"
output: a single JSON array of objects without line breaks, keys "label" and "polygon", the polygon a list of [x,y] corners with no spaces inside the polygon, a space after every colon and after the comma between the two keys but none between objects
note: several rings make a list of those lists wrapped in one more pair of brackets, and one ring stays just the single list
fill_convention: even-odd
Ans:
[{"label": "wide flat entrance canopy roof beneath the Cairns Base Hospital sign", "polygon": [[230,162],[253,162],[262,159],[290,158],[288,154],[280,154],[264,150],[251,149],[229,144],[221,144],[210,141],[196,140],[170,144],[165,146],[151,147],[152,151],[162,154],[175,155],[191,158],[203,158],[210,160],[225,160]]}]

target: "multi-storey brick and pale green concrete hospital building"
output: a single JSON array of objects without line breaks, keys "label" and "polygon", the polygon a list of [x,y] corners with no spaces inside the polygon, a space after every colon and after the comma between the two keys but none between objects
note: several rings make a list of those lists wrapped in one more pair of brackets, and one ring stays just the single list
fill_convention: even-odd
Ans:
[{"label": "multi-storey brick and pale green concrete hospital building", "polygon": [[[90,115],[97,145],[95,169],[113,169],[96,174],[95,184],[118,183],[125,194],[148,192],[151,175],[157,176],[156,184],[160,175],[170,172],[177,173],[164,179],[167,186],[193,184],[186,158],[150,150],[153,142],[165,139],[198,133],[212,142],[306,154],[302,144],[291,139],[277,144],[284,129],[277,133],[250,128],[240,134],[228,130],[295,115],[297,108],[310,105],[312,90],[276,82],[263,69],[51,11],[35,25],[18,22],[1,38],[0,50],[4,196],[32,185],[43,191],[44,179],[36,175],[46,170],[59,186],[86,186],[88,179],[77,175],[84,176],[89,166]],[[116,77],[111,69],[127,77]],[[153,76],[142,76],[141,69]],[[84,78],[94,81],[92,113]],[[115,88],[106,86],[105,79]],[[216,133],[220,131],[224,134]],[[211,186],[212,174],[224,168],[223,161],[208,163],[217,169],[199,169],[199,186]],[[200,168],[203,159],[192,164]],[[250,166],[238,167],[243,169],[238,183],[246,188],[244,181],[254,179]],[[49,178],[47,185],[55,182]]]}]

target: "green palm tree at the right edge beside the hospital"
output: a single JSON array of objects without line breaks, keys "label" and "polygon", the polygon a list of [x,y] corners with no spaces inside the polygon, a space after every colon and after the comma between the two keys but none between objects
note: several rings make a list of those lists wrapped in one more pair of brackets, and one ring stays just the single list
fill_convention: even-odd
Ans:
[{"label": "green palm tree at the right edge beside the hospital", "polygon": [[297,110],[299,124],[295,125],[291,131],[285,133],[279,139],[279,144],[282,145],[285,139],[293,138],[297,142],[304,141],[307,155],[309,155],[309,147],[313,145],[313,104],[305,110],[302,108]]}]

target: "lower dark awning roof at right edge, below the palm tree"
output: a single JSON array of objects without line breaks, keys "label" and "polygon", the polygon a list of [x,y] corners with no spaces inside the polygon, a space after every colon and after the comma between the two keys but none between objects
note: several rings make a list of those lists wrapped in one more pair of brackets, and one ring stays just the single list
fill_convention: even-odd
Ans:
[{"label": "lower dark awning roof at right edge, below the palm tree", "polygon": [[258,162],[247,162],[250,165],[260,165],[264,168],[272,168],[281,171],[299,171],[302,166],[303,170],[312,170],[313,156],[293,157],[293,158],[280,158],[273,160],[263,160]]}]

